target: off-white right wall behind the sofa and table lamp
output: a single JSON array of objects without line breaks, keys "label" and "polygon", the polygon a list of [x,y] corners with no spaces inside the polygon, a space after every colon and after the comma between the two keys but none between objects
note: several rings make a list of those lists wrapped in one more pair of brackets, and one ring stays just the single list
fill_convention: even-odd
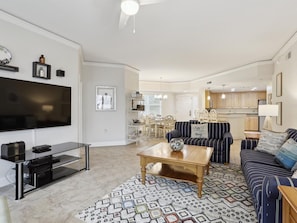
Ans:
[{"label": "off-white right wall behind the sofa and table lamp", "polygon": [[[297,39],[297,38],[295,38]],[[291,52],[291,58],[288,53]],[[276,75],[282,73],[282,96],[276,96]],[[297,41],[285,51],[281,51],[274,64],[272,81],[272,103],[282,102],[282,125],[276,125],[273,118],[273,129],[285,131],[287,128],[297,128]]]}]

